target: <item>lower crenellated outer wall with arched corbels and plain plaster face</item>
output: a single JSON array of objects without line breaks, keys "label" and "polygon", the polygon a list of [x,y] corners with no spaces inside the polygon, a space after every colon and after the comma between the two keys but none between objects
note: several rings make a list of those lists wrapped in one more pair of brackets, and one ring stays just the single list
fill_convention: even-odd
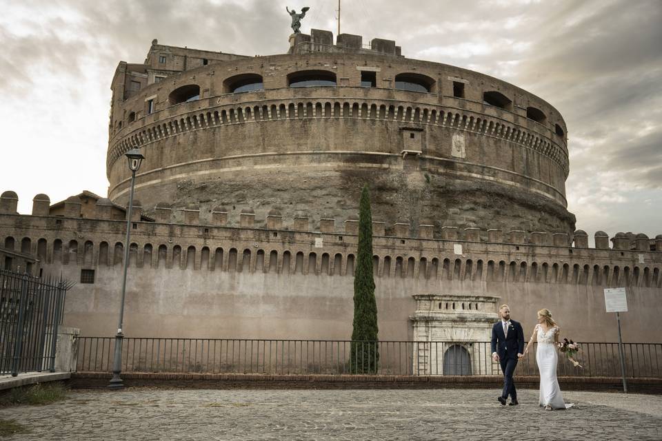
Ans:
[{"label": "lower crenellated outer wall with arched corbels and plain plaster face", "polygon": [[[11,194],[8,194],[8,201]],[[5,194],[3,194],[4,196]],[[12,199],[13,201],[13,199]],[[39,203],[35,198],[35,203]],[[68,216],[24,216],[0,198],[0,240],[21,244],[45,271],[80,281],[67,301],[68,325],[106,335],[117,320],[126,222]],[[9,207],[9,208],[7,208]],[[103,213],[104,206],[99,210]],[[351,331],[357,221],[272,211],[181,214],[159,204],[157,222],[132,218],[127,332],[133,335],[246,338],[346,338]],[[173,223],[182,216],[184,222]],[[582,340],[614,340],[604,287],[627,287],[625,339],[657,341],[662,294],[662,236],[654,250],[645,235],[588,235],[430,225],[412,229],[374,222],[374,271],[381,338],[411,338],[414,294],[488,295],[509,302],[533,325],[535,311],[552,309]],[[10,239],[8,239],[10,238]],[[458,302],[457,308],[461,308]],[[157,334],[154,334],[157,333]]]}]

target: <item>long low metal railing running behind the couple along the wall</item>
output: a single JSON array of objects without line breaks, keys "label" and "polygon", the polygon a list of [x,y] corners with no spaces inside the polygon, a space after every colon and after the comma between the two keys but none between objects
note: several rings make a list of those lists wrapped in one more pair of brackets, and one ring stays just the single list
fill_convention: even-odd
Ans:
[{"label": "long low metal railing running behind the couple along the wall", "polygon": [[[80,338],[78,370],[110,372],[113,345],[113,337]],[[122,371],[372,373],[361,366],[361,353],[374,353],[369,348],[377,345],[374,373],[378,375],[501,375],[499,364],[492,362],[490,342],[365,341],[354,345],[356,351],[351,350],[350,340],[124,338]],[[628,377],[662,378],[662,344],[623,346]],[[621,376],[618,343],[581,343],[576,360],[583,369],[559,355],[559,376]],[[538,375],[535,348],[519,362],[516,375]]]}]

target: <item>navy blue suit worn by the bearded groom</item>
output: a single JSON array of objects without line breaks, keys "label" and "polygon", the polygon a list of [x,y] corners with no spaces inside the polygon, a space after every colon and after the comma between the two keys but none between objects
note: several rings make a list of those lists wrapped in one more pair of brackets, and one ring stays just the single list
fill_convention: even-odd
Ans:
[{"label": "navy blue suit worn by the bearded groom", "polygon": [[503,372],[503,392],[501,396],[517,400],[515,383],[512,373],[517,366],[517,354],[524,353],[524,330],[515,320],[510,320],[508,336],[503,334],[503,322],[499,320],[492,326],[492,353],[499,356],[499,364]]}]

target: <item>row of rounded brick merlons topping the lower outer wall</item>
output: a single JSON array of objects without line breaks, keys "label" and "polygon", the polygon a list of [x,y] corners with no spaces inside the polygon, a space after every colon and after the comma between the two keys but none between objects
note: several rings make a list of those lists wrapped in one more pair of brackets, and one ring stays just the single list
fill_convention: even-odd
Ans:
[{"label": "row of rounded brick merlons topping the lower outer wall", "polygon": [[[92,194],[83,192],[82,194]],[[17,214],[18,196],[15,192],[3,192],[0,196],[0,214]],[[50,198],[46,194],[38,194],[33,199],[32,216],[48,216],[59,218],[57,225],[62,224],[62,218],[76,220],[85,218],[89,220],[120,220],[117,213],[111,209],[115,207],[109,203],[106,198],[92,199],[92,207],[87,207],[83,212],[81,208],[81,199],[79,196],[71,196],[66,201],[50,206]],[[59,207],[62,205],[62,207]],[[52,213],[52,208],[58,207],[57,214]],[[126,210],[123,211],[126,213]],[[21,216],[22,223],[26,224],[25,218],[30,216]],[[274,234],[282,231],[317,233],[317,234],[343,234],[346,236],[357,236],[359,221],[348,219],[343,222],[337,222],[335,218],[323,217],[319,219],[310,218],[305,213],[300,213],[294,218],[284,219],[281,212],[277,209],[271,209],[265,213],[265,216],[258,217],[252,209],[242,209],[237,213],[235,210],[227,207],[214,207],[201,217],[199,207],[188,205],[183,209],[173,209],[168,203],[159,203],[154,209],[154,217],[145,216],[142,212],[140,201],[135,201],[131,214],[134,225],[143,223],[148,225],[155,221],[155,224],[172,227],[203,227],[200,236],[213,236],[212,230],[217,228],[239,228],[272,231]],[[154,227],[156,228],[156,227]],[[200,230],[199,228],[197,228]],[[402,243],[407,239],[417,240],[443,240],[453,243],[490,243],[490,244],[509,244],[516,245],[516,251],[519,251],[518,245],[529,247],[564,247],[575,249],[588,249],[588,234],[581,229],[574,232],[572,236],[562,232],[525,232],[523,230],[512,230],[504,232],[502,229],[479,229],[464,228],[444,225],[441,227],[441,233],[435,233],[435,226],[432,224],[421,223],[411,225],[404,221],[394,221],[387,223],[383,220],[374,220],[372,223],[373,234],[375,237],[399,238]],[[156,231],[156,229],[153,229]],[[170,234],[172,235],[172,234]],[[274,235],[275,236],[275,235]],[[341,236],[339,236],[341,237]],[[636,252],[662,252],[662,234],[651,240],[645,234],[616,233],[612,238],[605,232],[596,232],[594,234],[595,249],[612,249],[614,251]],[[611,243],[611,248],[610,248]],[[460,253],[461,254],[461,253]]]}]

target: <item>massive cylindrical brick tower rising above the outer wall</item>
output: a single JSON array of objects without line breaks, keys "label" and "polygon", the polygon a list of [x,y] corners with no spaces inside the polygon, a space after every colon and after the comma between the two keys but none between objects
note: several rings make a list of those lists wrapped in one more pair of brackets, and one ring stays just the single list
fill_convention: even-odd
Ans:
[{"label": "massive cylindrical brick tower rising above the outer wall", "polygon": [[288,54],[241,57],[154,41],[146,63],[120,63],[108,196],[126,203],[121,156],[140,147],[146,212],[165,201],[195,203],[203,219],[224,205],[258,221],[271,209],[341,220],[369,183],[387,234],[398,220],[574,231],[554,107],[491,76],[402,57],[393,41],[331,43],[313,30]]}]

